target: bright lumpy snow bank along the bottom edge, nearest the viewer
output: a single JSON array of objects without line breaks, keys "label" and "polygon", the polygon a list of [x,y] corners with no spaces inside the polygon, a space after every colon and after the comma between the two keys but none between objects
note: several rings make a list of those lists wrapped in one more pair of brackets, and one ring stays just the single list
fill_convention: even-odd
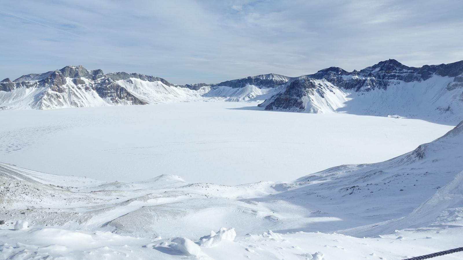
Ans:
[{"label": "bright lumpy snow bank along the bottom edge, nearest the viewer", "polygon": [[[136,238],[102,231],[32,227],[23,230],[0,229],[0,259],[196,259],[196,260],[357,260],[405,259],[460,246],[463,227],[425,227],[398,230],[376,238],[340,234],[265,232],[237,236],[223,229],[217,247],[200,247],[186,237]],[[220,235],[219,235],[220,236]],[[207,239],[206,239],[207,240]],[[445,259],[462,259],[463,253]]]}]

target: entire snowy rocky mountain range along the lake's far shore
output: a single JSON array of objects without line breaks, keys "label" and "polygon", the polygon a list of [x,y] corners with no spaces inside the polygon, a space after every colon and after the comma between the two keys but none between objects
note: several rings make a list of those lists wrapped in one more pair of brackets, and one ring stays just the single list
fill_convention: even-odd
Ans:
[{"label": "entire snowy rocky mountain range along the lake's far shore", "polygon": [[[463,61],[421,68],[390,59],[347,72],[330,67],[287,77],[263,74],[217,84],[175,85],[137,73],[66,66],[0,82],[0,109],[257,101],[263,110],[419,118],[456,124],[463,115]],[[256,108],[257,109],[257,108]]]}]

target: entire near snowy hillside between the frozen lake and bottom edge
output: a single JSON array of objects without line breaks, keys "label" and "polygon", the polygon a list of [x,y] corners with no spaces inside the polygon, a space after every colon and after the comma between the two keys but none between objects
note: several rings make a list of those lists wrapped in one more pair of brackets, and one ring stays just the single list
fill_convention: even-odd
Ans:
[{"label": "entire near snowy hillside between the frozen lake and bottom edge", "polygon": [[238,186],[175,175],[107,183],[0,163],[0,255],[400,259],[456,248],[462,148],[463,122],[388,161]]}]

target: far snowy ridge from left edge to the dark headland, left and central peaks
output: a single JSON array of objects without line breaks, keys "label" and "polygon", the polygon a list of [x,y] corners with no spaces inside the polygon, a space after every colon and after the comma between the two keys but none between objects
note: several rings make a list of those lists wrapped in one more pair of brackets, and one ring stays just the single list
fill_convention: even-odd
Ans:
[{"label": "far snowy ridge from left edge to the dark headland, left and central peaks", "polygon": [[0,109],[50,109],[103,105],[145,105],[181,101],[267,99],[288,81],[267,74],[219,84],[173,85],[167,80],[125,72],[104,74],[66,66],[0,82]]}]

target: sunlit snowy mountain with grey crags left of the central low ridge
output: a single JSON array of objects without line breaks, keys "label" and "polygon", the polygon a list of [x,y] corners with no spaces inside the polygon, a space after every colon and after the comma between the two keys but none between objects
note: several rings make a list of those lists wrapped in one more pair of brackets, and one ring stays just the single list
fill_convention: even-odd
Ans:
[{"label": "sunlit snowy mountain with grey crags left of the central low ridge", "polygon": [[2,80],[0,103],[2,109],[144,105],[194,96],[188,92],[194,91],[174,87],[158,77],[123,72],[105,75],[100,69],[67,66]]}]

